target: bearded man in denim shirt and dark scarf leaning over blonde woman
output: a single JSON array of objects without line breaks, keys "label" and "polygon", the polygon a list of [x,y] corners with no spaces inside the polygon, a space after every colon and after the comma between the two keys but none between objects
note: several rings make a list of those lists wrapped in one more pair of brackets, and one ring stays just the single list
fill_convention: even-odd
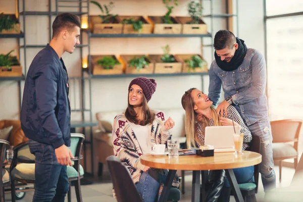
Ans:
[{"label": "bearded man in denim shirt and dark scarf leaning over blonde woman", "polygon": [[217,113],[223,115],[227,113],[227,107],[233,105],[251,134],[261,137],[260,173],[264,191],[269,191],[276,187],[276,174],[265,95],[265,59],[256,49],[246,48],[244,41],[228,30],[216,33],[214,47],[208,97],[217,105],[222,85],[225,100],[218,105]]}]

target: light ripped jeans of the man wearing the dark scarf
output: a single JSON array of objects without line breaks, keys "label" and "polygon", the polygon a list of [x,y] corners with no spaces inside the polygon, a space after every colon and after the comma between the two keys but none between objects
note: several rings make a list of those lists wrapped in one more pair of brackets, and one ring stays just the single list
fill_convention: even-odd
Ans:
[{"label": "light ripped jeans of the man wearing the dark scarf", "polygon": [[260,173],[264,191],[276,188],[276,174],[274,171],[273,160],[273,136],[270,127],[269,117],[263,118],[254,124],[248,126],[252,135],[261,138],[261,155]]}]

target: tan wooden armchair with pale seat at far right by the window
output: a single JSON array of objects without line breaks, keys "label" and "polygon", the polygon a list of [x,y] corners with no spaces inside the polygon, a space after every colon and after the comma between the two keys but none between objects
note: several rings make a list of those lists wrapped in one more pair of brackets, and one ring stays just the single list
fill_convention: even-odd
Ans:
[{"label": "tan wooden armchair with pale seat at far right by the window", "polygon": [[272,121],[270,125],[273,135],[273,158],[274,161],[279,162],[279,180],[281,182],[282,161],[294,159],[294,169],[298,164],[298,138],[302,121],[287,119]]}]

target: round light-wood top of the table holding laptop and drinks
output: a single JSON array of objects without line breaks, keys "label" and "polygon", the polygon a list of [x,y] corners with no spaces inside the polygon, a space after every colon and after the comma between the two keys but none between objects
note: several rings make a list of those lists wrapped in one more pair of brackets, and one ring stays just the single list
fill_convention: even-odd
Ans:
[{"label": "round light-wood top of the table holding laptop and drinks", "polygon": [[214,157],[200,157],[197,155],[183,155],[178,158],[168,156],[142,155],[141,164],[151,168],[170,170],[221,170],[234,169],[260,164],[262,155],[243,151],[242,155],[233,152],[215,153]]}]

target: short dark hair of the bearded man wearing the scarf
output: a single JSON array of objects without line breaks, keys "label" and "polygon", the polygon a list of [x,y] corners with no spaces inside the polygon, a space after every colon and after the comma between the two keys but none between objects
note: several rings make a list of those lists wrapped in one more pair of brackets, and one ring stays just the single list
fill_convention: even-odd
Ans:
[{"label": "short dark hair of the bearded man wearing the scarf", "polygon": [[232,48],[232,46],[236,43],[235,35],[228,30],[219,30],[214,39],[214,48],[216,50],[221,50],[223,48]]}]

